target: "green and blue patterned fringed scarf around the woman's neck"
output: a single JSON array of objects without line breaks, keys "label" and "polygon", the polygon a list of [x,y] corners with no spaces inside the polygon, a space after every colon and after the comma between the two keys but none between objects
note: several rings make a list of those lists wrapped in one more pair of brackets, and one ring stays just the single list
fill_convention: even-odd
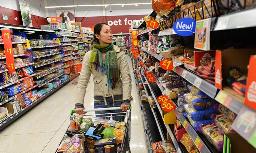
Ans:
[{"label": "green and blue patterned fringed scarf around the woman's neck", "polygon": [[[107,85],[112,89],[115,88],[119,79],[119,72],[117,68],[117,55],[113,49],[113,44],[100,45],[93,43],[91,51],[90,70],[95,70],[98,73],[107,73]],[[106,52],[105,64],[102,62],[102,52]]]}]

